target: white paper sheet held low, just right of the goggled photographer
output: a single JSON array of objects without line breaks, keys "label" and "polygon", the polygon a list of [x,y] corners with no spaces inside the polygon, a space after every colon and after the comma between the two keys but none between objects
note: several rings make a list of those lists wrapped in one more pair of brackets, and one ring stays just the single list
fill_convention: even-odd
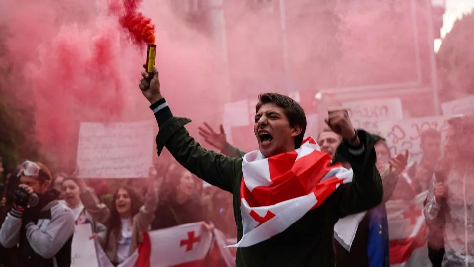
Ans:
[{"label": "white paper sheet held low, just right of the goggled photographer", "polygon": [[99,267],[94,240],[89,240],[91,235],[89,223],[76,225],[71,244],[71,267]]}]

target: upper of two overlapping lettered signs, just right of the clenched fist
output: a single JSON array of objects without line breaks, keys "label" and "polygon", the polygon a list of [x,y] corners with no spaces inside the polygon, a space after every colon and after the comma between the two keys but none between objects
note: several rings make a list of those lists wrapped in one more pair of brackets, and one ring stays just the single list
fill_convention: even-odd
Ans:
[{"label": "upper of two overlapping lettered signs, just right of the clenched fist", "polygon": [[400,98],[345,102],[352,124],[373,134],[380,134],[379,121],[403,118]]}]

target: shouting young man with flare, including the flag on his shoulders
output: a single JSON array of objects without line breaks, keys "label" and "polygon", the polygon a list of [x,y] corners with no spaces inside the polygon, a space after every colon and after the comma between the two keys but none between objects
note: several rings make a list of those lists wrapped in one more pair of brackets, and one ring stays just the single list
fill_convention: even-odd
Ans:
[{"label": "shouting young man with flare, including the flag on his shoulders", "polygon": [[[276,93],[260,95],[256,106],[259,151],[229,158],[202,148],[184,128],[190,120],[173,117],[161,96],[156,69],[150,83],[146,72],[142,76],[140,89],[160,128],[158,155],[166,146],[199,178],[233,194],[237,266],[334,266],[334,224],[381,202],[375,140],[357,133],[345,110],[330,110],[326,122],[343,137],[338,153],[354,175],[332,166],[331,157],[318,151],[314,140],[303,142],[303,109]],[[352,182],[342,179],[348,176]]]}]

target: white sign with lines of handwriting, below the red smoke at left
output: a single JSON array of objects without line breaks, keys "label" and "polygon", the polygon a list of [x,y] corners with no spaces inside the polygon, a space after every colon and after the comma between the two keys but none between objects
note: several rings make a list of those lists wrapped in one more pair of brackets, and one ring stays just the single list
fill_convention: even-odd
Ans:
[{"label": "white sign with lines of handwriting, below the red smoke at left", "polygon": [[82,178],[148,177],[152,121],[80,124],[77,166]]}]

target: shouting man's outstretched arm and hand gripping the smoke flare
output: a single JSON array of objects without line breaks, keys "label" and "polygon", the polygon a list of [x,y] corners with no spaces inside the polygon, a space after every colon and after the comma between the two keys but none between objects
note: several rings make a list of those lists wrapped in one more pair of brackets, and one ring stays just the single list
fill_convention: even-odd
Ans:
[{"label": "shouting man's outstretched arm and hand gripping the smoke flare", "polygon": [[166,146],[171,155],[197,177],[232,192],[236,174],[242,168],[242,159],[232,159],[202,148],[184,128],[191,120],[174,117],[166,100],[161,96],[156,68],[153,69],[150,82],[147,81],[148,73],[142,71],[141,74],[143,79],[139,87],[150,101],[150,109],[153,110],[159,126],[156,138],[158,156]]}]

